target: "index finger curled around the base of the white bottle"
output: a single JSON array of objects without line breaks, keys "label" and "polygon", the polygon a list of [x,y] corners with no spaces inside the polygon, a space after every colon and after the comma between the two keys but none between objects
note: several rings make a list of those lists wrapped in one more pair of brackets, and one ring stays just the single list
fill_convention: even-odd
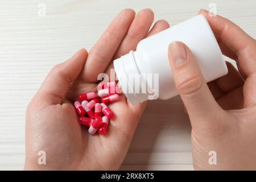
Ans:
[{"label": "index finger curled around the base of the white bottle", "polygon": [[245,75],[256,73],[256,42],[240,27],[221,16],[209,16],[207,10],[200,10],[207,18],[222,52],[230,58],[237,57],[238,66]]}]

